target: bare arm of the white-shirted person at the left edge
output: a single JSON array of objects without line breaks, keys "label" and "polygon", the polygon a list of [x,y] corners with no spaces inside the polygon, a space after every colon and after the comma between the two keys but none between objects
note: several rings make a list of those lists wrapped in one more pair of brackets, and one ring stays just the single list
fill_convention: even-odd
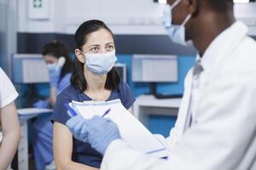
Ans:
[{"label": "bare arm of the white-shirted person at the left edge", "polygon": [[15,103],[0,109],[3,141],[0,145],[0,169],[7,169],[11,163],[20,142],[20,123],[16,113]]}]

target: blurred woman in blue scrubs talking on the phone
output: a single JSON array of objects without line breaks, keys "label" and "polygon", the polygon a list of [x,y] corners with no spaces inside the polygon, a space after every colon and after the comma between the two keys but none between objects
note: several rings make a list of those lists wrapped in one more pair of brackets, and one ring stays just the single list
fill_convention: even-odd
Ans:
[{"label": "blurred woman in blue scrubs talking on the phone", "polygon": [[[34,106],[55,108],[56,96],[70,84],[70,50],[63,42],[53,41],[44,46],[42,54],[49,70],[50,96],[47,100],[38,101]],[[38,170],[55,169],[52,149],[53,125],[50,117],[51,115],[39,116],[32,123],[32,147]]]}]

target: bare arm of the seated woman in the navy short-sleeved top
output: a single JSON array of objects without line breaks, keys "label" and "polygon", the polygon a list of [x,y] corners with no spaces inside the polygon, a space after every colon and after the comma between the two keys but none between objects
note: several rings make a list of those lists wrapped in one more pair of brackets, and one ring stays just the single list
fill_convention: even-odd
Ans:
[{"label": "bare arm of the seated woman in the navy short-sleeved top", "polygon": [[72,161],[73,135],[65,125],[54,122],[53,148],[55,156],[55,165],[61,170],[96,170],[95,167],[89,167],[81,163]]}]

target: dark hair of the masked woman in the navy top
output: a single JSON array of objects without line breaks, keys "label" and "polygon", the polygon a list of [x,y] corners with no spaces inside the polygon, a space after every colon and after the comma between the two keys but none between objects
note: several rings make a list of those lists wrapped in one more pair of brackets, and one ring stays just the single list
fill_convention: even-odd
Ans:
[{"label": "dark hair of the masked woman in the navy top", "polygon": [[[79,29],[76,31],[74,37],[77,48],[82,51],[84,43],[87,42],[87,36],[90,33],[98,31],[100,29],[105,29],[109,31],[109,33],[111,33],[111,35],[113,36],[113,32],[101,20],[88,20],[81,24],[81,26],[79,26]],[[87,82],[84,77],[84,63],[81,63],[77,58],[74,60],[73,63],[73,70],[70,82],[75,88],[79,88],[79,90],[83,92],[88,88]],[[119,90],[119,82],[119,74],[113,67],[112,70],[108,72],[105,88],[109,90]]]}]

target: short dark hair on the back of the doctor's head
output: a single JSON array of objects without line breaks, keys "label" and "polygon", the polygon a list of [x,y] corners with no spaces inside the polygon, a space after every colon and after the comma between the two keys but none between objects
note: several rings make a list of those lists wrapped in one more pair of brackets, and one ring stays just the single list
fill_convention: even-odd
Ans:
[{"label": "short dark hair on the back of the doctor's head", "polygon": [[207,1],[210,8],[218,13],[225,13],[227,11],[233,10],[233,0],[200,0]]}]

